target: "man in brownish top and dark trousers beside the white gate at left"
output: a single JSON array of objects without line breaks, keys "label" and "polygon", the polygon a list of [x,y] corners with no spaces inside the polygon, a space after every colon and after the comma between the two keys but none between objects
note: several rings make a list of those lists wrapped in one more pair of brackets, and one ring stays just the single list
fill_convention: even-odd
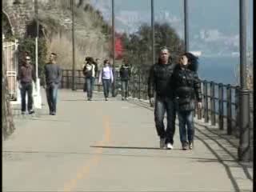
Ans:
[{"label": "man in brownish top and dark trousers beside the white gate at left", "polygon": [[34,66],[31,64],[31,58],[26,54],[25,61],[22,61],[22,66],[18,70],[19,89],[22,96],[22,114],[26,113],[26,94],[27,94],[27,110],[29,114],[34,114],[33,110],[33,82],[35,82]]}]

